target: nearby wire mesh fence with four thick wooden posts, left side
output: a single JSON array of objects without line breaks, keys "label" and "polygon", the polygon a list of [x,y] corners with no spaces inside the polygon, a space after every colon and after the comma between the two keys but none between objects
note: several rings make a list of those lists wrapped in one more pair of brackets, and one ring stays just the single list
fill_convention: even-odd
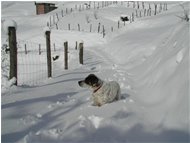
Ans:
[{"label": "nearby wire mesh fence with four thick wooden posts, left side", "polygon": [[[10,75],[9,79],[16,78],[15,85],[38,85],[53,76],[53,62],[60,56],[63,56],[64,68],[68,65],[68,42],[56,44],[51,43],[51,32],[46,32],[46,44],[35,43],[31,41],[16,40],[15,28],[9,28],[14,32],[9,32],[10,54]],[[48,33],[48,34],[47,34]],[[79,43],[79,42],[76,42]],[[79,43],[79,46],[83,43]],[[76,45],[76,49],[77,49]],[[74,48],[73,48],[74,49]],[[75,50],[75,49],[74,49]],[[82,50],[83,52],[83,50]],[[59,53],[59,54],[58,54]],[[78,51],[79,54],[79,51]],[[82,55],[80,57],[80,55]],[[79,64],[83,64],[83,53],[79,54]]]}]

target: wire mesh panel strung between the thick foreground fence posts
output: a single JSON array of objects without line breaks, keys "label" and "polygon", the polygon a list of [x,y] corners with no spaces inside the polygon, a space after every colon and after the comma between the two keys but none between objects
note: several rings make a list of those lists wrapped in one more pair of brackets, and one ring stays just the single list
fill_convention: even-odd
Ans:
[{"label": "wire mesh panel strung between the thick foreground fence posts", "polygon": [[[18,40],[17,47],[18,85],[34,86],[45,82],[48,79],[46,44]],[[51,44],[52,61],[63,53],[63,44]]]}]

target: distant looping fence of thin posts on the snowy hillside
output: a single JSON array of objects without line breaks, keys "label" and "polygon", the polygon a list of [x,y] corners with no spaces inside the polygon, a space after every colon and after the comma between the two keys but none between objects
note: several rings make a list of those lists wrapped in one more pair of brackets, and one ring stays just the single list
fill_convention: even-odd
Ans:
[{"label": "distant looping fence of thin posts on the snowy hillside", "polygon": [[[166,11],[167,3],[166,2],[155,2],[155,3],[147,3],[143,1],[87,1],[84,4],[75,5],[73,8],[65,8],[60,10],[59,12],[51,15],[47,22],[47,26],[50,28],[55,29],[65,29],[65,30],[76,30],[76,31],[85,31],[85,32],[96,32],[100,33],[105,37],[108,32],[115,32],[117,29],[120,29],[126,26],[127,21],[118,20],[117,24],[106,26],[105,23],[97,22],[97,24],[90,23],[89,16],[86,15],[86,22],[88,25],[81,25],[80,23],[71,23],[65,21],[64,23],[60,23],[60,20],[75,12],[75,11],[84,11],[84,10],[99,10],[102,8],[106,8],[111,5],[122,5],[126,8],[133,8],[134,10],[129,14],[129,19],[127,20],[128,23],[132,23],[137,18],[147,17],[147,16],[154,16],[163,11]],[[97,12],[94,11],[94,17],[97,18]],[[84,30],[85,29],[85,30]]]}]

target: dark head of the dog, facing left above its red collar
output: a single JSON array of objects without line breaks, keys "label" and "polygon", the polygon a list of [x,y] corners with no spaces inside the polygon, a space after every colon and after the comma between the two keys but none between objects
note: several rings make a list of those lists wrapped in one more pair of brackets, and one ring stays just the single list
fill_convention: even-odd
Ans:
[{"label": "dark head of the dog, facing left above its red collar", "polygon": [[80,87],[96,89],[101,86],[102,81],[94,74],[90,74],[84,80],[79,81],[78,84]]}]

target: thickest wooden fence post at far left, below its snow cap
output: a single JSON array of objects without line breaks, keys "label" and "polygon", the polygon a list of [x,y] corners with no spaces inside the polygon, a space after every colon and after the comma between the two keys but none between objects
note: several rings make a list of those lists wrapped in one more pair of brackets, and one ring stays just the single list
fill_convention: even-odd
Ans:
[{"label": "thickest wooden fence post at far left, below its snow cap", "polygon": [[10,47],[10,73],[9,79],[16,78],[14,85],[17,85],[17,42],[16,42],[16,28],[8,27],[9,47]]}]

